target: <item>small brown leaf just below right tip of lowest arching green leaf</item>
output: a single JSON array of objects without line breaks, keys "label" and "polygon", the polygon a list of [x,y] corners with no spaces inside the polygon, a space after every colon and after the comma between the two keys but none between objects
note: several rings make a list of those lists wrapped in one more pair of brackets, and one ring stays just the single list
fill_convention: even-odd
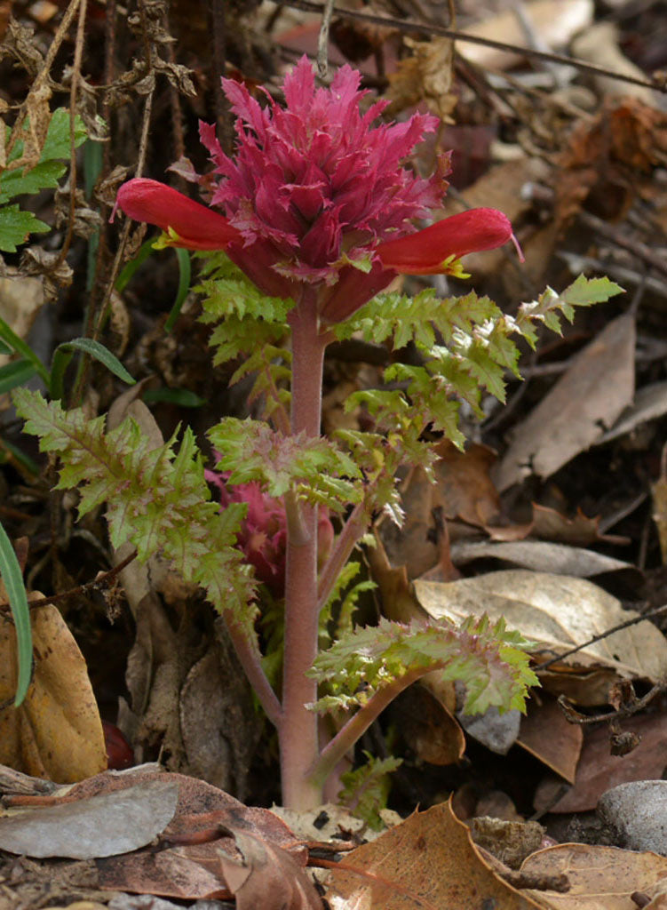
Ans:
[{"label": "small brown leaf just below right tip of lowest arching green leaf", "polygon": [[517,744],[570,784],[574,784],[582,743],[581,726],[569,723],[554,699],[541,695],[540,704],[528,703]]}]

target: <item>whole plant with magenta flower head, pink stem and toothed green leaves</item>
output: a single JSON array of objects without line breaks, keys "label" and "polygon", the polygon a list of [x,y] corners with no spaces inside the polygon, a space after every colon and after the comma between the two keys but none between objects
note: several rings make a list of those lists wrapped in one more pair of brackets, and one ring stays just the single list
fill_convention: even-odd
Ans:
[{"label": "whole plant with magenta flower head, pink stem and toothed green leaves", "polygon": [[[283,801],[295,808],[330,795],[341,759],[427,672],[464,682],[468,713],[523,708],[536,678],[520,633],[486,618],[355,626],[350,605],[359,585],[345,592],[358,565],[349,558],[374,515],[400,521],[397,471],[430,470],[434,458],[424,431],[462,446],[460,402],[481,413],[483,393],[504,400],[505,371],[519,375],[512,335],[534,345],[539,324],[558,331],[560,315],[572,319],[575,305],[619,290],[605,278],[580,277],[561,294],[547,288],[514,317],[473,291],[447,298],[432,288],[414,297],[386,291],[400,274],[460,277],[462,256],[498,248],[513,234],[491,208],[417,229],[441,206],[447,159],[428,178],[401,161],[438,121],[413,114],[381,122],[385,103],[362,112],[359,82],[343,66],[328,88],[316,87],[304,58],[284,80],[281,106],[268,95],[260,104],[223,79],[237,118],[236,154],[223,152],[212,126],[200,126],[214,171],[191,177],[208,205],[139,177],[118,192],[127,216],[162,228],[163,245],[201,251],[198,289],[202,318],[215,324],[214,363],[242,356],[232,381],[252,377],[250,399],[263,419],[226,417],[208,433],[224,472],[224,508],[212,501],[189,429],[179,446],[172,438],[151,449],[131,419],[106,432],[103,417],[88,420],[25,390],[15,395],[26,431],[61,460],[58,486],[80,488],[79,511],[106,502],[114,546],[131,541],[139,560],[162,552],[222,613],[278,731]],[[352,336],[395,351],[411,342],[419,360],[395,357],[380,388],[349,397],[346,407],[364,410],[369,430],[327,438],[324,353]],[[278,560],[284,650],[282,679],[272,685],[260,647],[266,636],[258,633],[266,590],[258,578],[276,581],[262,561],[276,570]],[[328,727],[318,723],[327,713]]]}]

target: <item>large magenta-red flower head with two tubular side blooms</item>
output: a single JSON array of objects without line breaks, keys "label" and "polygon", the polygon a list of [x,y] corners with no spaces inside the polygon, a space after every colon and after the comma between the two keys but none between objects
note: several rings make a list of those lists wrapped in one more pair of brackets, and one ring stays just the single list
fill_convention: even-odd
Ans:
[{"label": "large magenta-red flower head with two tubular side blooms", "polygon": [[246,86],[223,79],[237,117],[234,157],[223,152],[213,126],[200,124],[199,134],[217,175],[212,202],[224,216],[138,177],[119,189],[116,205],[162,227],[168,246],[226,250],[271,297],[296,301],[308,288],[328,325],[347,319],[398,272],[467,277],[461,256],[508,240],[522,259],[509,220],[493,208],[415,233],[414,221],[441,205],[448,159],[427,179],[401,161],[438,121],[414,114],[405,123],[376,124],[386,102],[362,113],[360,79],[341,66],[328,88],[318,88],[302,57],[285,77],[285,106],[270,96],[261,106]]}]

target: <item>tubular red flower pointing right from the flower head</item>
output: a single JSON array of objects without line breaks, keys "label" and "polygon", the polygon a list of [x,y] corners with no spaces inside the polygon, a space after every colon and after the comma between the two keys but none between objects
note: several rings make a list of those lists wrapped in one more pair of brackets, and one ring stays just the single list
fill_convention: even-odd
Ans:
[{"label": "tubular red flower pointing right from the flower head", "polygon": [[384,268],[405,275],[458,271],[466,253],[501,247],[513,239],[508,217],[496,208],[471,208],[437,221],[408,237],[388,240],[376,249]]}]

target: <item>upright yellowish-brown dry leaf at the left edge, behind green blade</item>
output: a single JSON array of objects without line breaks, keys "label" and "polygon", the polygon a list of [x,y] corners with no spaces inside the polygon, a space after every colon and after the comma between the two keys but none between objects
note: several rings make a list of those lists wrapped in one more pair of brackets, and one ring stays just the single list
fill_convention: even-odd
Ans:
[{"label": "upright yellowish-brown dry leaf at the left edge, behind green blade", "polygon": [[34,609],[31,620],[35,672],[19,708],[14,627],[0,625],[0,763],[60,784],[80,781],[106,768],[86,661],[56,607]]}]

